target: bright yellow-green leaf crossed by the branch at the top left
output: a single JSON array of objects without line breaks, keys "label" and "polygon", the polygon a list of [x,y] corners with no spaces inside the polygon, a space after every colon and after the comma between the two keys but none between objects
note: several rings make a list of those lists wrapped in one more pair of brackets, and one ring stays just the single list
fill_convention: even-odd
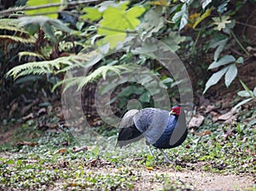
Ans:
[{"label": "bright yellow-green leaf crossed by the branch at the top left", "polygon": [[[61,0],[28,0],[26,2],[27,7],[33,7],[33,6],[40,6],[40,5],[46,5],[51,3],[61,3]],[[42,9],[34,9],[34,10],[26,10],[26,14],[46,14],[52,19],[58,18],[58,11],[60,10],[61,6],[59,7],[49,7],[49,8],[42,8]],[[55,12],[55,14],[52,14]],[[47,14],[51,13],[51,14]]]}]

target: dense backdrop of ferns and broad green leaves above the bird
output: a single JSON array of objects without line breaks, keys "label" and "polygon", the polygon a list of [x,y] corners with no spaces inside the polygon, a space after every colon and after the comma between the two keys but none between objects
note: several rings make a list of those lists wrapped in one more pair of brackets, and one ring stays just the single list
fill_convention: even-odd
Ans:
[{"label": "dense backdrop of ferns and broad green leaves above the bird", "polygon": [[[19,88],[39,80],[46,86],[37,84],[38,90],[51,87],[53,91],[62,84],[65,84],[64,90],[74,85],[80,90],[100,78],[120,77],[141,66],[148,67],[153,76],[160,78],[159,85],[168,90],[169,96],[175,97],[175,86],[182,81],[175,81],[157,63],[156,54],[165,50],[155,46],[152,38],[165,43],[168,49],[181,56],[189,65],[187,67],[192,68],[191,78],[196,78],[193,85],[203,93],[223,77],[224,84],[229,87],[237,76],[239,65],[252,56],[246,49],[249,39],[238,38],[240,34],[235,28],[241,23],[237,14],[244,6],[253,4],[253,0],[47,3],[47,0],[29,0],[26,9],[3,10],[1,75],[7,77],[2,85],[3,96],[14,91],[7,88],[12,84],[10,77],[15,78],[15,85]],[[198,61],[196,57],[200,56],[201,61]],[[69,73],[71,76],[64,78],[66,72],[81,68],[84,71],[82,76]],[[200,72],[201,78],[194,77],[194,72]],[[147,75],[140,80],[154,85],[154,80]],[[148,92],[147,87],[137,84],[126,84],[126,89],[119,90],[112,102],[118,101],[122,107],[125,101],[135,96],[143,107],[150,106],[152,97],[158,92]],[[255,100],[256,89],[249,90],[246,84],[241,84],[246,92],[241,91],[239,96],[247,99],[236,107]],[[108,84],[101,91],[114,88]],[[45,96],[45,91],[43,94]],[[13,99],[15,97],[7,102]]]}]

